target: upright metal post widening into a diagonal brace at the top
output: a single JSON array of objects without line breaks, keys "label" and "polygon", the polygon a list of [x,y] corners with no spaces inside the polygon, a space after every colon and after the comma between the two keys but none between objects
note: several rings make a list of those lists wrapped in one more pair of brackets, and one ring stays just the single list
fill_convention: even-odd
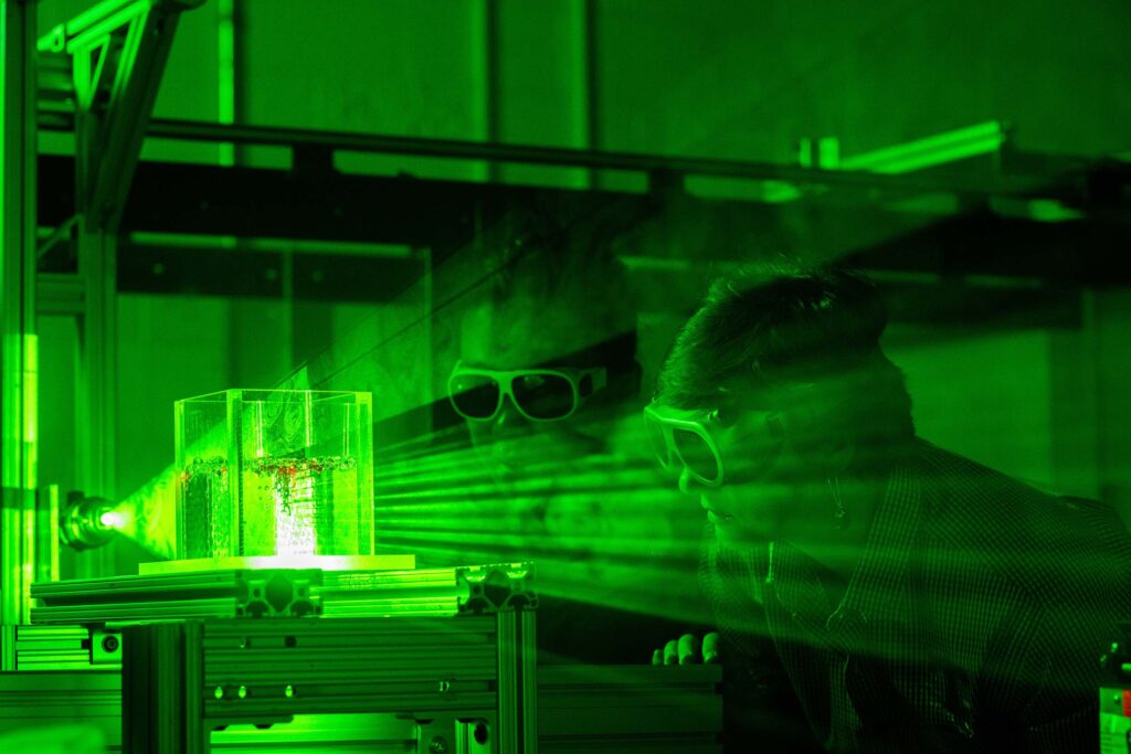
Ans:
[{"label": "upright metal post widening into a diagonal brace at the top", "polygon": [[88,495],[115,493],[122,208],[180,14],[202,2],[104,0],[57,26],[38,45],[43,52],[69,55],[74,77],[75,241],[83,285],[76,457],[78,484]]}]

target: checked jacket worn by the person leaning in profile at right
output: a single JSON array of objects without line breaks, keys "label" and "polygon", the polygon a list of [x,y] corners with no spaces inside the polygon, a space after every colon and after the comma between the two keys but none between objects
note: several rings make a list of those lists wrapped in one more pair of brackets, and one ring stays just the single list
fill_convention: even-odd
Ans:
[{"label": "checked jacket worn by the person leaning in profile at right", "polygon": [[1131,618],[1110,509],[917,441],[839,605],[822,573],[779,541],[711,544],[701,575],[732,658],[792,687],[826,749],[1098,749],[1098,658]]}]

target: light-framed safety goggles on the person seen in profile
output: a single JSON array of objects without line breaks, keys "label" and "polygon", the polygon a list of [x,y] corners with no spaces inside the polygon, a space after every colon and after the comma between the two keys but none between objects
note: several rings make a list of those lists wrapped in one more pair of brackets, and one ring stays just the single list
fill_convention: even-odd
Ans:
[{"label": "light-framed safety goggles on the person seen in profile", "polygon": [[[785,442],[780,411],[744,411],[740,419],[731,422],[720,419],[717,409],[706,414],[681,411],[653,402],[645,407],[644,418],[659,465],[707,487],[758,478]],[[735,458],[726,465],[716,440],[716,434],[725,433],[732,434],[728,444],[735,449]]]}]

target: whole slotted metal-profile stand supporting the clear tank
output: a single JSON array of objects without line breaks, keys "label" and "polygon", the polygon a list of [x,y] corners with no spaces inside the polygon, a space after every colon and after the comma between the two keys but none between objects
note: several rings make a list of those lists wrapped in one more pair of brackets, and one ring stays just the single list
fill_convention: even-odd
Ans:
[{"label": "whole slotted metal-profile stand supporting the clear tank", "polygon": [[414,721],[418,751],[535,754],[533,586],[528,563],[37,583],[20,659],[72,669],[85,649],[97,670],[119,657],[111,639],[127,752],[207,752],[233,723],[391,712]]}]

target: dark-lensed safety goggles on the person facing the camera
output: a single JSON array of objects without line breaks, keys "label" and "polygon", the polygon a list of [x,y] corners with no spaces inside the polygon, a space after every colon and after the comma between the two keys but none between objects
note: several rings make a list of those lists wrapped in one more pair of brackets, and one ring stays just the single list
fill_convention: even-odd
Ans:
[{"label": "dark-lensed safety goggles on the person facing the camera", "polygon": [[477,370],[456,364],[448,378],[448,397],[456,413],[473,422],[490,422],[510,397],[518,413],[530,422],[554,422],[572,416],[593,393],[605,387],[604,366]]}]

